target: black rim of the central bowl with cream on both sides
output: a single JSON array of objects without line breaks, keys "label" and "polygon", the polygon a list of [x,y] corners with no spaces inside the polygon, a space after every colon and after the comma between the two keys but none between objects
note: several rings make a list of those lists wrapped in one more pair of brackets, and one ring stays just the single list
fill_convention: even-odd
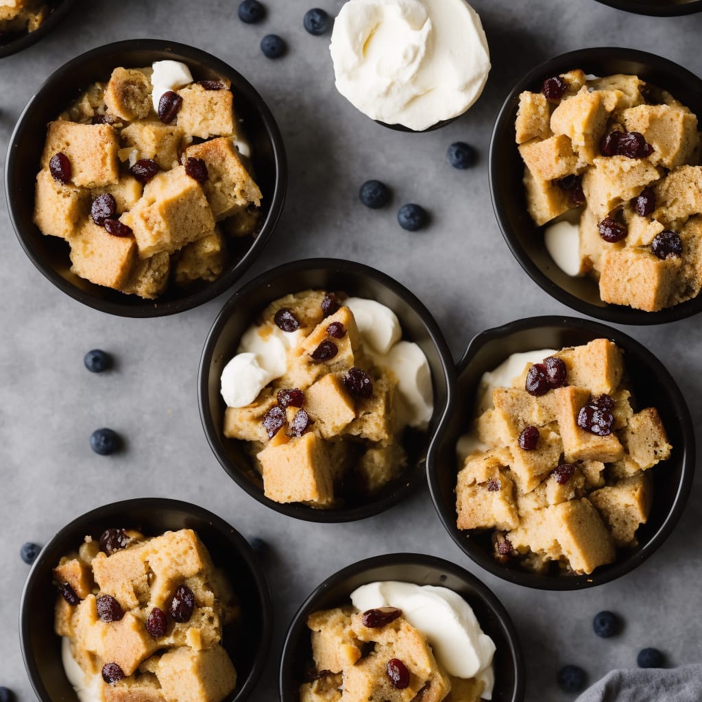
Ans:
[{"label": "black rim of the central bowl with cream on both sides", "polygon": [[[301,503],[274,502],[265,497],[263,495],[263,491],[261,491],[256,485],[247,479],[236,466],[232,465],[230,461],[228,461],[223,452],[220,451],[218,428],[215,426],[209,411],[208,376],[214,348],[219,340],[224,326],[227,324],[232,314],[236,313],[239,300],[246,298],[246,296],[254,291],[257,291],[258,289],[265,288],[265,286],[267,286],[267,284],[269,284],[272,280],[283,275],[305,272],[307,270],[324,270],[332,268],[339,268],[344,272],[369,277],[390,289],[390,291],[395,293],[399,298],[405,300],[406,303],[412,307],[413,311],[417,314],[423,326],[427,330],[432,343],[437,349],[439,359],[442,363],[442,373],[444,376],[444,383],[446,384],[446,397],[448,399],[453,385],[455,365],[453,362],[453,357],[451,356],[451,351],[449,350],[442,331],[439,328],[439,324],[437,324],[431,312],[429,312],[427,307],[420,302],[414,293],[409,291],[409,289],[407,289],[402,283],[399,283],[397,280],[391,278],[388,274],[383,273],[382,271],[369,265],[365,265],[364,263],[344,260],[341,258],[303,258],[289,261],[288,263],[282,263],[281,265],[259,274],[256,278],[234,291],[234,294],[229,298],[229,300],[227,300],[225,305],[218,313],[210,331],[208,331],[200,356],[197,382],[197,401],[202,427],[207,437],[208,444],[210,445],[210,449],[216,456],[222,468],[225,470],[225,472],[227,472],[227,475],[229,475],[240,488],[244,489],[246,493],[265,507],[271,508],[272,510],[280,512],[288,517],[303,519],[306,522],[319,522],[324,524],[355,522],[359,519],[366,519],[367,517],[377,515],[380,512],[392,507],[392,505],[404,500],[404,498],[406,498],[411,491],[416,489],[418,486],[418,481],[404,481],[392,494],[381,499],[374,500],[371,503],[359,505],[358,507],[351,509],[334,508],[329,510],[315,510],[314,508],[307,507]],[[437,417],[435,426],[438,427],[443,423],[448,411],[449,402],[446,402],[443,407],[439,407],[435,404],[434,416]],[[431,441],[432,434],[428,430],[427,446],[430,446]],[[419,472],[425,472],[422,470],[421,465],[419,465]]]}]

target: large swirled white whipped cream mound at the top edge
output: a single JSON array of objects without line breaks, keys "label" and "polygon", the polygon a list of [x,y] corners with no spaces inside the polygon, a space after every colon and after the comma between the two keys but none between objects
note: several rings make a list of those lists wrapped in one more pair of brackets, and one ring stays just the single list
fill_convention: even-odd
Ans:
[{"label": "large swirled white whipped cream mound at the top edge", "polygon": [[371,119],[421,131],[468,110],[490,55],[465,0],[349,0],[331,35],[336,88]]}]

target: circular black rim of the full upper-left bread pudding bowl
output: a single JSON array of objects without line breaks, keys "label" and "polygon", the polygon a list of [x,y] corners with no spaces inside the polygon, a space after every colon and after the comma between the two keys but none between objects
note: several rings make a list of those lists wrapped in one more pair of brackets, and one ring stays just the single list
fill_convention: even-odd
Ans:
[{"label": "circular black rim of the full upper-left bread pudding bowl", "polygon": [[[246,95],[246,100],[251,103],[252,109],[258,113],[263,130],[267,134],[268,140],[270,140],[272,158],[275,164],[275,177],[269,211],[260,232],[253,240],[253,243],[249,246],[246,253],[244,253],[244,256],[242,256],[233,267],[230,266],[225,269],[214,282],[208,284],[204,289],[196,293],[191,293],[178,300],[169,300],[166,303],[159,303],[159,300],[144,300],[140,305],[125,305],[113,300],[103,300],[102,298],[94,296],[92,293],[88,293],[74,286],[74,284],[58,274],[53,267],[49,268],[42,265],[39,256],[34,253],[34,249],[31,244],[29,244],[29,241],[27,241],[25,232],[20,226],[20,206],[15,204],[13,198],[16,186],[18,185],[18,176],[15,173],[15,164],[18,160],[16,146],[25,136],[27,130],[27,116],[32,113],[34,105],[41,100],[44,92],[55,84],[60,83],[66,75],[71,74],[74,68],[84,65],[86,62],[99,60],[100,58],[112,56],[117,53],[131,53],[133,51],[159,53],[168,51],[168,53],[173,55],[174,60],[198,62],[229,77],[232,79],[232,83],[236,82],[237,93],[244,93]],[[37,270],[60,289],[60,291],[66,293],[79,303],[83,303],[95,310],[100,310],[100,312],[106,312],[107,314],[140,319],[145,317],[166,317],[170,314],[178,314],[178,312],[192,310],[193,307],[207,303],[231,289],[251,268],[251,265],[253,265],[265,248],[268,239],[270,239],[283,210],[287,180],[287,157],[282,134],[270,108],[266,105],[263,98],[261,98],[258,91],[256,91],[256,88],[254,88],[236,69],[216,56],[195,46],[180,44],[167,39],[125,39],[123,41],[114,41],[111,44],[102,44],[101,46],[96,46],[95,48],[81,53],[55,69],[55,71],[44,80],[41,86],[34,91],[34,94],[29,98],[27,105],[25,105],[22,110],[8,141],[5,164],[5,195],[10,220],[22,249],[24,249],[27,257],[32,261]]]}]

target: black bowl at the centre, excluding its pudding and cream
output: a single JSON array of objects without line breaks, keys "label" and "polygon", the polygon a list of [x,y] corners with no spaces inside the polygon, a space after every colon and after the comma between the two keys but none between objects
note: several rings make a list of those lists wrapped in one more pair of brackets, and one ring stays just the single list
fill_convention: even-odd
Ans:
[{"label": "black bowl at the centre, excluding its pudding and cream", "polygon": [[[227,439],[222,432],[225,402],[220,395],[222,369],[236,354],[239,338],[256,316],[273,300],[306,289],[344,291],[371,298],[390,307],[402,324],[402,338],[416,342],[425,353],[434,383],[434,414],[427,432],[413,433],[406,448],[407,468],[390,484],[365,501],[348,501],[329,510],[301,503],[279,504],[265,497],[258,473],[244,451],[244,442]],[[360,263],[333,258],[311,258],[286,263],[261,274],[237,291],[224,306],[210,330],[200,359],[200,418],[210,446],[222,467],[241,488],[267,507],[309,522],[352,522],[382,512],[399,502],[424,477],[430,437],[446,411],[453,361],[437,323],[420,301],[387,275]]]}]

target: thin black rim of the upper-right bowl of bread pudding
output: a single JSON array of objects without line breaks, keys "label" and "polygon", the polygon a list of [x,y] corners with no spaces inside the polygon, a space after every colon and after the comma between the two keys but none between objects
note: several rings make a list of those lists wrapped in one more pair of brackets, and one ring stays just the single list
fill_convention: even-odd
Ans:
[{"label": "thin black rim of the upper-right bowl of bread pudding", "polygon": [[[702,0],[698,1],[702,6]],[[540,286],[542,290],[563,305],[570,307],[571,310],[587,314],[589,317],[600,319],[603,322],[613,322],[614,324],[648,326],[651,324],[677,322],[680,319],[687,319],[687,317],[702,312],[702,293],[699,293],[698,296],[691,300],[685,300],[682,303],[673,305],[673,307],[665,307],[665,309],[658,310],[658,312],[644,312],[643,310],[636,310],[633,307],[628,307],[628,305],[614,305],[610,303],[605,303],[603,307],[593,305],[557,285],[543,273],[541,268],[534,263],[531,256],[529,256],[519,244],[515,232],[512,231],[508,224],[508,213],[505,207],[505,201],[501,199],[499,194],[500,189],[497,183],[501,179],[502,171],[497,158],[498,145],[505,133],[513,133],[514,131],[513,122],[516,111],[515,99],[519,93],[529,89],[529,86],[543,79],[544,76],[552,75],[555,72],[561,72],[565,67],[575,67],[578,62],[602,60],[603,55],[606,58],[616,60],[640,62],[651,67],[665,70],[665,72],[668,73],[675,73],[685,83],[694,86],[694,89],[702,95],[702,78],[668,58],[647,53],[646,51],[639,51],[638,49],[621,46],[592,46],[562,53],[542,62],[517,81],[506,96],[495,120],[490,139],[488,159],[490,197],[493,210],[505,242],[512,252],[512,256],[514,256],[519,265],[522,266],[522,269],[527,272],[529,277]],[[700,119],[702,119],[702,114],[700,115]],[[516,150],[517,145],[515,144],[514,147]],[[542,225],[542,227],[536,227],[536,225],[534,225],[534,229],[541,230],[543,226],[544,225]]]}]

